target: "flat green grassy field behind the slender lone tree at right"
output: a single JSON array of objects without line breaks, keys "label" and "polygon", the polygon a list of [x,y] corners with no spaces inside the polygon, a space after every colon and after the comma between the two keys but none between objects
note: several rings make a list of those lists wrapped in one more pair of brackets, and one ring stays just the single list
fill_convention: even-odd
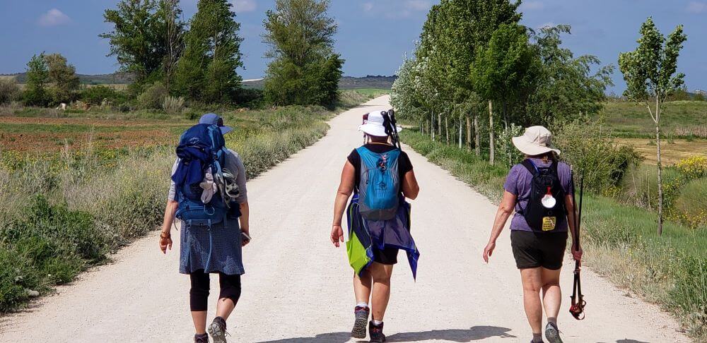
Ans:
[{"label": "flat green grassy field behind the slender lone tree at right", "polygon": [[[607,102],[600,116],[616,136],[655,138],[655,124],[642,105]],[[665,102],[660,121],[665,137],[707,138],[707,101]]]}]

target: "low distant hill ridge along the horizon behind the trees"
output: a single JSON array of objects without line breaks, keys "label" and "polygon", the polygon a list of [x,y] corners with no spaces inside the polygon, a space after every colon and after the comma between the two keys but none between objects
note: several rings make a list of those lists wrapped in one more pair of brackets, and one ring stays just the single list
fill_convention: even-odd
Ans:
[{"label": "low distant hill ridge along the horizon behind the trees", "polygon": [[[130,73],[112,73],[112,74],[100,74],[100,75],[84,75],[77,74],[81,83],[87,85],[121,85],[132,83],[133,76]],[[15,74],[0,74],[0,77],[14,77],[18,83],[25,83],[27,80],[26,73],[15,73]],[[367,75],[361,78],[356,78],[353,76],[344,76],[339,80],[339,88],[343,90],[351,90],[358,88],[375,88],[388,90],[392,87],[393,82],[397,76],[382,76],[382,75]],[[246,88],[263,88],[264,80],[246,80],[243,81],[243,85]]]}]

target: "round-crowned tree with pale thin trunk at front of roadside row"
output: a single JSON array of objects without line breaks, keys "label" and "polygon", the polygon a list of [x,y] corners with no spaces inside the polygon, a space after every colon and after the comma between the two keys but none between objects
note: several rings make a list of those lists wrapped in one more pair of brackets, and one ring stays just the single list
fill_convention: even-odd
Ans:
[{"label": "round-crowned tree with pale thin trunk at front of roadside row", "polygon": [[[489,102],[489,162],[494,164],[493,101],[506,104],[532,88],[540,68],[539,59],[528,42],[527,29],[518,24],[501,24],[489,44],[477,49],[471,66],[474,90]],[[508,118],[508,114],[504,113]],[[508,119],[506,119],[508,122]]]}]

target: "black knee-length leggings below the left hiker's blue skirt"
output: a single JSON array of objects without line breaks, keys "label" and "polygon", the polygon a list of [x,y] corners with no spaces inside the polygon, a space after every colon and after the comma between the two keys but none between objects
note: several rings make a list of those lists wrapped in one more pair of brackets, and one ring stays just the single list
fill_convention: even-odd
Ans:
[{"label": "black knee-length leggings below the left hiker's blue skirt", "polygon": [[[206,311],[209,303],[209,274],[203,269],[189,274],[192,279],[192,289],[189,290],[189,306],[192,311]],[[221,294],[218,299],[230,299],[238,303],[240,298],[240,275],[226,275],[218,272],[218,284],[221,285]]]}]

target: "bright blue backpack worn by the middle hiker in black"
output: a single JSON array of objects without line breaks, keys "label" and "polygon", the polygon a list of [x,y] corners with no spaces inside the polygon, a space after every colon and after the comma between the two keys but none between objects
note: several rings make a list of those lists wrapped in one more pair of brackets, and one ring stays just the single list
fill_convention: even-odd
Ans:
[{"label": "bright blue backpack worn by the middle hiker in black", "polygon": [[361,157],[361,185],[358,189],[361,216],[370,220],[395,218],[400,193],[400,150],[379,154],[361,147],[356,148],[356,151]]}]

